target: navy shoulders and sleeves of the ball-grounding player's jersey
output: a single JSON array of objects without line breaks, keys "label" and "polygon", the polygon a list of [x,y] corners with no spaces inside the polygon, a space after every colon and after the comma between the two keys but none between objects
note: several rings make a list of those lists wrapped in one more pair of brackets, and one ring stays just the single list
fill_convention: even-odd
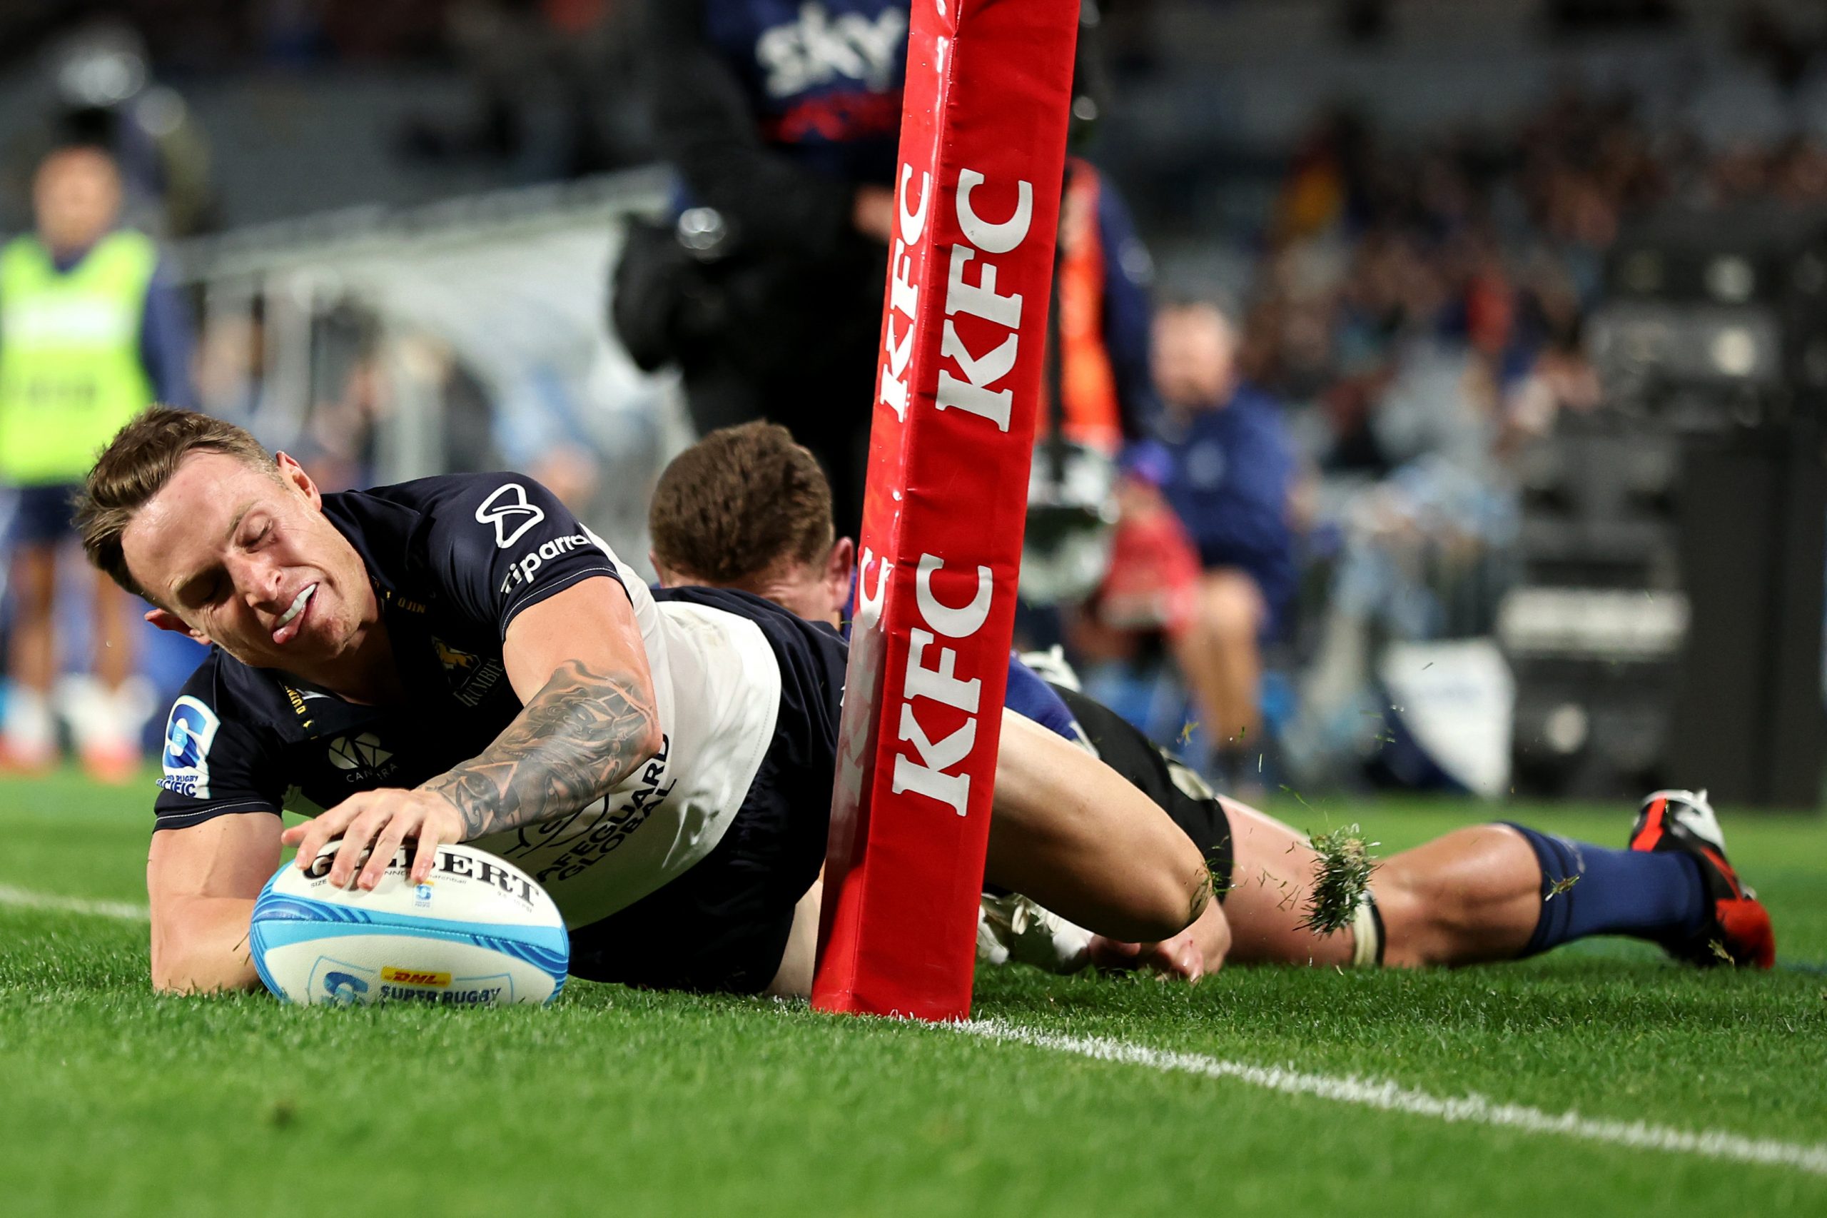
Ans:
[{"label": "navy shoulders and sleeves of the ball-grounding player's jersey", "polygon": [[159,828],[287,801],[327,808],[475,757],[521,711],[501,655],[513,616],[579,580],[619,580],[532,479],[473,474],[327,494],[323,514],[367,567],[411,702],[345,702],[210,649],[166,722]]}]

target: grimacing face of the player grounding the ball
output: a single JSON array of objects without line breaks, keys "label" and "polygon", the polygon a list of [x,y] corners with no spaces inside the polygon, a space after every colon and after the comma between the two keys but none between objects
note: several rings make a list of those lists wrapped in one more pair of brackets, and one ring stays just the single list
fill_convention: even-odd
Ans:
[{"label": "grimacing face of the player grounding the ball", "polygon": [[254,668],[325,678],[376,620],[367,569],[323,516],[316,485],[280,454],[280,475],[197,452],[121,534],[128,571],[164,629]]}]

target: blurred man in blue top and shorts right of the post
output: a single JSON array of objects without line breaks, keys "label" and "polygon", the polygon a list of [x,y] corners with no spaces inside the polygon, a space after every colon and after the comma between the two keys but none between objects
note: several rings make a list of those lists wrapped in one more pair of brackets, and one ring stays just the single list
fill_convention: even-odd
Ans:
[{"label": "blurred man in blue top and shorts right of the post", "polygon": [[1237,333],[1208,302],[1155,318],[1155,384],[1166,402],[1162,490],[1199,547],[1204,572],[1175,653],[1199,704],[1211,768],[1248,781],[1262,741],[1261,646],[1294,594],[1288,501],[1294,448],[1281,406],[1242,380]]}]

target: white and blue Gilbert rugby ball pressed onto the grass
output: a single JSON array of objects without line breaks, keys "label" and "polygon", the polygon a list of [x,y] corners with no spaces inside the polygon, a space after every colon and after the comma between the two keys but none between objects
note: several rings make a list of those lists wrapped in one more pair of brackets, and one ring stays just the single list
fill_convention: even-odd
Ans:
[{"label": "white and blue Gilbert rugby ball pressed onto the grass", "polygon": [[404,847],[364,892],[331,883],[340,847],[323,847],[311,867],[287,861],[254,902],[254,967],[280,999],[508,1006],[552,1002],[565,988],[565,918],[513,863],[438,847],[431,878],[415,885]]}]

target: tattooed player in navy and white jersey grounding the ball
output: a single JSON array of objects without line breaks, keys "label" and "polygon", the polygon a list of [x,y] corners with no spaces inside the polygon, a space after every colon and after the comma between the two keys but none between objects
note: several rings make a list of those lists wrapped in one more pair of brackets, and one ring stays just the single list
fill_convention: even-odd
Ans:
[{"label": "tattooed player in navy and white jersey grounding the ball", "polygon": [[[303,865],[333,839],[331,880],[362,887],[402,845],[415,880],[440,843],[512,860],[585,978],[809,988],[844,673],[829,627],[742,593],[650,593],[526,477],[320,494],[190,411],[115,437],[79,525],[150,622],[212,644],[166,724],[155,988],[256,988],[256,894],[281,845]],[[1197,847],[1058,737],[1009,717],[996,792],[992,880],[1120,940],[1208,905]],[[281,808],[314,819],[281,834]]]}]

